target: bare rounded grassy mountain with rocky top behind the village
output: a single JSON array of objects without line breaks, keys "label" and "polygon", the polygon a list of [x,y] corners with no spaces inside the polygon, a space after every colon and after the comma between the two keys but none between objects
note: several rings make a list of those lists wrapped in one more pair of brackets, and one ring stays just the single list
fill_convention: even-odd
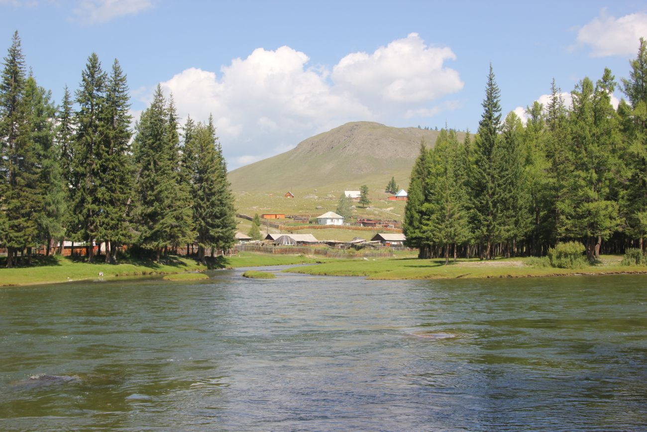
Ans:
[{"label": "bare rounded grassy mountain with rocky top behind the village", "polygon": [[[280,155],[228,174],[235,192],[382,188],[391,179],[406,187],[421,139],[433,146],[438,131],[351,122],[305,139]],[[459,139],[464,134],[459,133]]]}]

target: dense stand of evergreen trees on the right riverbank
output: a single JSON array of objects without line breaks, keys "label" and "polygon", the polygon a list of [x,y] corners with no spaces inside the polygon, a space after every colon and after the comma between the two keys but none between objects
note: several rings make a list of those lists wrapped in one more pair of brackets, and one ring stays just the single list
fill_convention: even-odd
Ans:
[{"label": "dense stand of evergreen trees on the right riverbank", "polygon": [[641,39],[626,96],[609,69],[584,78],[567,107],[553,80],[547,106],[527,123],[501,121],[492,67],[474,139],[441,130],[411,171],[404,233],[421,258],[533,255],[576,241],[589,260],[647,246],[647,44]]}]

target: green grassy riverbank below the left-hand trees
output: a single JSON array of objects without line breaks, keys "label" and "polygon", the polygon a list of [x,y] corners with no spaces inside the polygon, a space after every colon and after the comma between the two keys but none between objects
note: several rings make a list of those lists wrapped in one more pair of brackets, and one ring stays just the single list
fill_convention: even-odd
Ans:
[{"label": "green grassy riverbank below the left-hand trees", "polygon": [[[314,264],[318,260],[299,255],[269,255],[263,253],[241,252],[237,256],[219,257],[215,267],[258,267],[284,266],[291,264]],[[214,266],[212,266],[214,267]],[[162,262],[151,260],[121,260],[120,264],[87,264],[62,256],[41,257],[34,265],[12,269],[0,268],[0,286],[22,286],[36,284],[55,284],[75,280],[115,279],[142,275],[177,274],[189,271],[203,271],[208,267],[192,258],[170,256]],[[103,273],[102,276],[99,274]]]}]

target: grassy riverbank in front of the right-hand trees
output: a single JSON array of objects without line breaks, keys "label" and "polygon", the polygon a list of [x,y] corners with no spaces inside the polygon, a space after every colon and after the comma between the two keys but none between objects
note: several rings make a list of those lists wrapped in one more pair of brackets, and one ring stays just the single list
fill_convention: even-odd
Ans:
[{"label": "grassy riverbank in front of the right-hand trees", "polygon": [[326,276],[365,276],[367,279],[488,279],[504,277],[545,277],[559,275],[604,275],[647,273],[647,266],[620,266],[620,256],[604,256],[600,264],[579,269],[532,266],[528,258],[498,259],[488,262],[458,260],[444,265],[444,259],[376,258],[333,260],[318,266],[295,267],[291,273]]}]

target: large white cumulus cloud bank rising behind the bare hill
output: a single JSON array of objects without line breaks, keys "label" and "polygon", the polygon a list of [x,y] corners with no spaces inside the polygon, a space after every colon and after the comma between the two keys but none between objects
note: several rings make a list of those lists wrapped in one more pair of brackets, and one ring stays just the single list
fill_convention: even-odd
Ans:
[{"label": "large white cumulus cloud bank rising behind the bare hill", "polygon": [[178,113],[211,113],[230,166],[294,147],[303,139],[355,120],[391,122],[430,117],[459,107],[439,98],[463,88],[448,48],[428,47],[415,33],[372,54],[355,52],[332,71],[309,66],[304,52],[258,48],[220,73],[190,68],[162,82]]}]

